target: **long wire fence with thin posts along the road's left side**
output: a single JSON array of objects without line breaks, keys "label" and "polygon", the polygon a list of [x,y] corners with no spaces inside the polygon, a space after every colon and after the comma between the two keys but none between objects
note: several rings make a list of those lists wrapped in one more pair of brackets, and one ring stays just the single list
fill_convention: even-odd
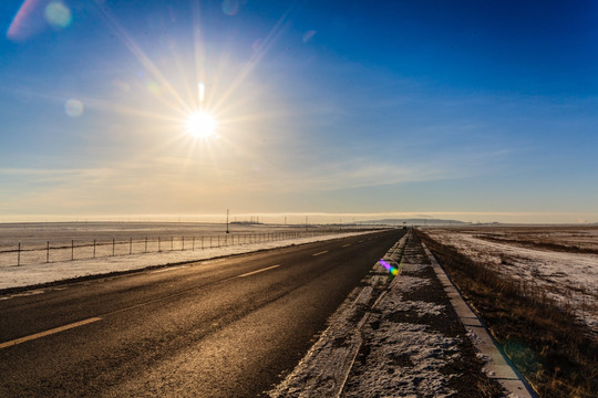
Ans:
[{"label": "long wire fence with thin posts along the road's left side", "polygon": [[172,251],[195,251],[214,248],[272,242],[279,240],[308,238],[330,233],[330,231],[279,231],[260,233],[220,233],[197,237],[152,237],[144,239],[94,239],[70,242],[45,242],[45,247],[25,247],[19,242],[16,248],[0,250],[0,266],[22,266],[42,263],[91,260],[117,255],[162,253]]}]

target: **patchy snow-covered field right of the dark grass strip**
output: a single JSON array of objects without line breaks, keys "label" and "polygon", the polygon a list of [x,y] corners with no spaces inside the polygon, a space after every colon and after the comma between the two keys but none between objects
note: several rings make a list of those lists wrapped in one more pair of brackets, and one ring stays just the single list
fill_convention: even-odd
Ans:
[{"label": "patchy snow-covered field right of the dark grass strip", "polygon": [[426,229],[440,243],[537,285],[598,333],[598,228]]}]

